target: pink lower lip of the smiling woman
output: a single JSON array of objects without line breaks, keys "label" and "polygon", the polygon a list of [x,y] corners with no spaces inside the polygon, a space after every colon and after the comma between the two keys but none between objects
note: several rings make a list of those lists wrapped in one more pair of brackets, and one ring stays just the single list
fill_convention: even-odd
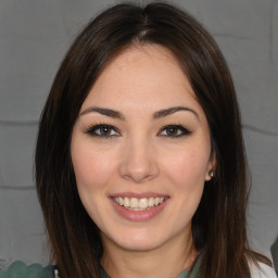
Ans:
[{"label": "pink lower lip of the smiling woman", "polygon": [[125,208],[125,206],[122,206],[117,204],[116,202],[111,199],[111,202],[116,211],[116,213],[124,217],[127,220],[131,222],[146,222],[154,218],[156,215],[159,215],[163,208],[166,206],[168,199],[166,199],[163,203],[160,205],[154,205],[151,208],[147,211],[129,211]]}]

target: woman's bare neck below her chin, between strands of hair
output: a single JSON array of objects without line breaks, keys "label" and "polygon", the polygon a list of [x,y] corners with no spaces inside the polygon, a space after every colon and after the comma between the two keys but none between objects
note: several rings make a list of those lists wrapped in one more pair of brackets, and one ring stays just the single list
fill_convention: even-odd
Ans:
[{"label": "woman's bare neck below her chin, between strands of hair", "polygon": [[148,251],[122,249],[102,237],[102,266],[111,278],[173,278],[190,268],[197,257],[192,236],[180,235],[162,247]]}]

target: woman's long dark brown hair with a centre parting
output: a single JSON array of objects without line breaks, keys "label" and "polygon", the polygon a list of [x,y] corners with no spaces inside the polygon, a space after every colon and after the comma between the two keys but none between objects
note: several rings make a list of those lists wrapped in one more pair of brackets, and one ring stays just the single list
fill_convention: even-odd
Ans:
[{"label": "woman's long dark brown hair with a centre parting", "polygon": [[134,43],[157,43],[174,53],[208,122],[217,167],[192,219],[194,245],[202,252],[199,277],[251,277],[248,262],[267,260],[248,245],[249,181],[232,79],[211,35],[166,3],[116,4],[102,12],[76,38],[55,76],[36,149],[37,190],[52,258],[62,277],[100,277],[102,243],[77,192],[71,135],[105,64]]}]

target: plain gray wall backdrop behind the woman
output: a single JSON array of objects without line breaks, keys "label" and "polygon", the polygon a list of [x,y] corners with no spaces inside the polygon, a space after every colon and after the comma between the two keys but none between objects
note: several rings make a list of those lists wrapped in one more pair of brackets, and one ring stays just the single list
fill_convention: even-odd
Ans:
[{"label": "plain gray wall backdrop behind the woman", "polygon": [[[114,2],[0,0],[0,266],[47,263],[33,179],[39,114],[75,35]],[[269,255],[278,235],[278,0],[169,2],[208,28],[231,68],[253,176],[251,244]]]}]

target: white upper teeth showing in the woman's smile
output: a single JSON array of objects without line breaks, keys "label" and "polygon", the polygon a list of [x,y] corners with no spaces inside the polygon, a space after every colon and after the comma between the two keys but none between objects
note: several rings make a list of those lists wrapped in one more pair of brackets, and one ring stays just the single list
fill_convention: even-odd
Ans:
[{"label": "white upper teeth showing in the woman's smile", "polygon": [[131,211],[146,211],[154,205],[160,205],[162,204],[166,198],[142,198],[142,199],[137,199],[137,198],[127,198],[127,197],[116,197],[113,198],[114,202],[116,202],[119,205],[125,206],[128,210]]}]

